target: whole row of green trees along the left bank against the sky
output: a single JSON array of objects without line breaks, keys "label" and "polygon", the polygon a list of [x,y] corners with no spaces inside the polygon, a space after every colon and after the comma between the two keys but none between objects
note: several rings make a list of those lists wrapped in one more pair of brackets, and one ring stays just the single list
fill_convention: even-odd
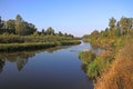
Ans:
[{"label": "whole row of green trees along the left bank against the sky", "polygon": [[33,23],[24,21],[20,14],[17,14],[16,19],[9,19],[8,21],[2,20],[0,17],[0,34],[4,33],[19,36],[64,36],[73,38],[70,33],[62,33],[61,31],[55,33],[52,27],[39,31]]}]

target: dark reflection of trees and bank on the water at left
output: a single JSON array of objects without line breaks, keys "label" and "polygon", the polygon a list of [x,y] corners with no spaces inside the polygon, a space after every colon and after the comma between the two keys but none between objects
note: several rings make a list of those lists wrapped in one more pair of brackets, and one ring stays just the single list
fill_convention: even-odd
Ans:
[{"label": "dark reflection of trees and bank on the water at left", "polygon": [[0,53],[0,72],[3,70],[3,66],[6,61],[16,62],[18,71],[21,71],[22,68],[27,65],[28,60],[35,56],[35,53],[40,53],[42,51],[47,51],[49,53],[53,53],[54,51],[70,48],[70,46],[64,47],[54,47],[45,50],[35,50],[35,51],[23,51],[23,52],[13,52],[13,53]]}]

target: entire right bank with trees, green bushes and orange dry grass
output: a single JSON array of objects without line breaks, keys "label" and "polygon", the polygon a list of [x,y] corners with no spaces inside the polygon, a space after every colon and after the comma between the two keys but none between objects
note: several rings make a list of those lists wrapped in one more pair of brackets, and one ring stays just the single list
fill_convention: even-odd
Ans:
[{"label": "entire right bank with trees, green bushes and orange dry grass", "polygon": [[96,79],[95,89],[133,89],[132,24],[132,18],[121,18],[120,21],[111,18],[109,28],[83,37],[104,49],[86,66],[88,76]]}]

